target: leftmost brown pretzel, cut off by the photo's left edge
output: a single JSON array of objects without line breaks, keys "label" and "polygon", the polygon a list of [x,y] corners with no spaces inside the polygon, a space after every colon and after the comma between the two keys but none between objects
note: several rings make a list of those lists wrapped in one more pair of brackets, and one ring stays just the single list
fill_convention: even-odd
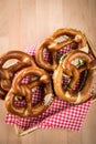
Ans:
[{"label": "leftmost brown pretzel, cut off by the photo's left edge", "polygon": [[[17,59],[19,62],[3,68],[4,63],[11,59]],[[35,65],[33,58],[21,51],[9,51],[0,56],[0,99],[3,100],[11,88],[14,73],[30,65]]]}]

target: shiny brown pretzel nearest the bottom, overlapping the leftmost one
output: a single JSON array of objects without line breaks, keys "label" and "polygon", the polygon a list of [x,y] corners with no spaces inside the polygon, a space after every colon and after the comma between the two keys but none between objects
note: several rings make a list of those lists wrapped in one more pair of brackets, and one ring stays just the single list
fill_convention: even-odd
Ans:
[{"label": "shiny brown pretzel nearest the bottom, overlapping the leftmost one", "polygon": [[[28,84],[22,84],[21,81],[26,75],[36,75],[38,80]],[[41,102],[32,105],[32,89],[41,84],[44,84],[44,97]],[[20,99],[24,96],[26,105],[22,107],[14,105],[17,96]],[[21,117],[38,116],[49,107],[52,101],[53,93],[49,73],[40,68],[30,66],[21,70],[13,79],[12,88],[6,96],[6,107],[10,113],[17,114]]]}]

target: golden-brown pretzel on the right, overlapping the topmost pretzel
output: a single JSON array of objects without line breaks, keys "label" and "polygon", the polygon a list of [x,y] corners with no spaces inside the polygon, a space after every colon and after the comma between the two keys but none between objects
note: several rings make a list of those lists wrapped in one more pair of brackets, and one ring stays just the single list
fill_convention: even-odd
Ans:
[{"label": "golden-brown pretzel on the right, overlapping the topmost pretzel", "polygon": [[[77,58],[78,60],[83,59],[85,64],[81,66],[77,66],[77,64],[75,63],[73,64],[73,61]],[[87,101],[90,97],[90,91],[95,74],[95,70],[92,69],[92,65],[93,64],[90,56],[79,50],[72,51],[67,54],[65,59],[62,58],[57,69],[53,74],[55,94],[60,99],[74,104]],[[73,92],[72,90],[77,83],[77,80],[79,79],[82,72],[85,72],[83,82],[81,84],[82,88],[78,90],[78,92]],[[68,83],[70,85],[66,90],[64,90],[64,85],[62,85],[63,74],[68,75],[71,78],[71,82]]]}]

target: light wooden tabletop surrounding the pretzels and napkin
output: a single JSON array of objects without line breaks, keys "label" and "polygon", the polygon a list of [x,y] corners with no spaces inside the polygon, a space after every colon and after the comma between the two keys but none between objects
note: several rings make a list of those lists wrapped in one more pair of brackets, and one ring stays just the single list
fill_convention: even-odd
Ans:
[{"label": "light wooden tabletop surrounding the pretzels and napkin", "polygon": [[[84,31],[96,49],[96,0],[0,0],[0,54],[39,43],[57,28]],[[4,123],[0,101],[0,144],[96,144],[96,103],[81,132],[38,130],[18,137]]]}]

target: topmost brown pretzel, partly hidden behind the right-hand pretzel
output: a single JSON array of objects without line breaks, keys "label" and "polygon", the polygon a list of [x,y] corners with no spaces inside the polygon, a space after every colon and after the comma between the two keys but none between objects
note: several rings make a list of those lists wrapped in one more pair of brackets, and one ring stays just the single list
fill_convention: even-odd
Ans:
[{"label": "topmost brown pretzel, partly hidden behind the right-hand pretzel", "polygon": [[[36,63],[47,71],[54,71],[58,64],[57,52],[67,44],[71,44],[73,49],[84,48],[86,47],[85,35],[81,31],[74,29],[58,29],[36,48]],[[47,49],[52,55],[51,62],[44,60],[44,49]]]}]

